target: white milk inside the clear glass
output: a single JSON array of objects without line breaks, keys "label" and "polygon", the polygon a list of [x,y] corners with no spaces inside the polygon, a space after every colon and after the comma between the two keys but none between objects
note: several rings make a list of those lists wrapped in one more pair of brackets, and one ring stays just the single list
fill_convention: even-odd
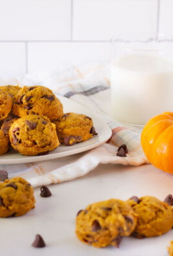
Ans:
[{"label": "white milk inside the clear glass", "polygon": [[145,124],[173,111],[173,62],[156,55],[127,55],[110,67],[112,112],[116,119]]}]

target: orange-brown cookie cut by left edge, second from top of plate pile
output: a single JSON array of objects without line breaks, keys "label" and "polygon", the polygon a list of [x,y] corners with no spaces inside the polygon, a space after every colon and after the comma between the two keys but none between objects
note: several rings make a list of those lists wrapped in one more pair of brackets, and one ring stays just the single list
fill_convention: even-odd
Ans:
[{"label": "orange-brown cookie cut by left edge, second from top of plate pile", "polygon": [[0,120],[5,119],[12,109],[12,97],[0,89]]}]

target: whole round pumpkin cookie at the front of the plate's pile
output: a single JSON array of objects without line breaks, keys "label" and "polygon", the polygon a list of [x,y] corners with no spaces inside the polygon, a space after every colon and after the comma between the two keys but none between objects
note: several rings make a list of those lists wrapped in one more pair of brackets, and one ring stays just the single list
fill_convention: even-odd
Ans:
[{"label": "whole round pumpkin cookie at the front of the plate's pile", "polygon": [[9,137],[12,147],[25,156],[47,154],[59,146],[55,124],[39,115],[17,119],[10,127]]}]

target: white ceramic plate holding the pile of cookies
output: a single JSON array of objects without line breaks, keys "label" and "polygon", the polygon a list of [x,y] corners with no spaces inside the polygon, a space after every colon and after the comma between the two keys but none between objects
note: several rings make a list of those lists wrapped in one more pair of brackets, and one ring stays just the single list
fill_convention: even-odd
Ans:
[{"label": "white ceramic plate holding the pile of cookies", "polygon": [[84,141],[81,143],[77,143],[73,146],[65,146],[61,145],[56,148],[56,150],[53,150],[48,155],[45,156],[22,156],[21,154],[11,151],[7,152],[6,154],[0,156],[0,165],[11,165],[15,163],[30,163],[30,162],[36,162],[36,161],[44,161],[44,160],[50,160],[58,157],[64,157],[64,156],[70,156],[74,155],[80,152],[84,152],[87,150],[90,150],[92,148],[96,148],[96,146],[99,146],[105,141],[107,141],[110,136],[112,135],[112,132],[110,128],[108,127],[105,122],[101,121],[96,115],[92,113],[92,111],[87,110],[87,108],[84,108],[80,104],[77,104],[76,102],[66,99],[65,97],[57,96],[59,100],[63,103],[64,112],[74,112],[74,113],[83,113],[85,115],[88,115],[89,117],[92,117],[92,120],[94,122],[94,127],[96,128],[96,132],[98,135],[92,137],[88,141]]}]

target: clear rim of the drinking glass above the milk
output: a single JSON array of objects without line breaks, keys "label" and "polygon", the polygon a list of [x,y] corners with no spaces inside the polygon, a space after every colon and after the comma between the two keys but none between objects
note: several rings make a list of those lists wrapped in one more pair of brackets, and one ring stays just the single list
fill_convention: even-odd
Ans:
[{"label": "clear rim of the drinking glass above the milk", "polygon": [[[133,50],[133,51],[154,51],[154,52],[158,52],[158,51],[163,51],[163,50],[167,50],[170,49],[170,47],[162,47],[159,49],[137,49],[135,47],[126,47],[124,45],[121,45],[121,42],[125,42],[127,40],[125,40],[123,37],[125,36],[132,36],[132,35],[137,35],[137,36],[147,36],[148,35],[148,41],[139,41],[139,40],[135,40],[136,38],[134,38],[134,41],[129,41],[130,42],[139,42],[139,43],[147,43],[147,42],[151,42],[151,41],[156,41],[157,37],[161,37],[161,38],[165,38],[165,40],[161,40],[162,42],[172,42],[172,49],[173,49],[173,36],[171,36],[170,34],[163,34],[163,33],[158,33],[158,32],[125,32],[125,33],[121,33],[119,34],[119,36],[114,36],[112,38],[110,38],[110,45],[115,46],[117,48],[120,49],[125,49],[125,50]],[[150,36],[149,36],[150,35]],[[120,41],[121,39],[121,41]],[[128,41],[127,41],[128,43]]]}]

